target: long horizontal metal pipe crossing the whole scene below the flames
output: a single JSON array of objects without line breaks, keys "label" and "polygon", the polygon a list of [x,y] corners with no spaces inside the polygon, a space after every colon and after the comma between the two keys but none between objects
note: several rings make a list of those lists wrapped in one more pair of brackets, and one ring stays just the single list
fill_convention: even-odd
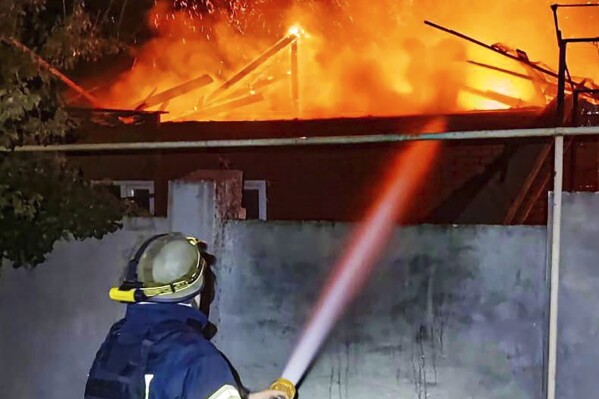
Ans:
[{"label": "long horizontal metal pipe crossing the whole scene below the flames", "polygon": [[[424,134],[376,134],[367,136],[321,136],[291,137],[274,139],[242,140],[199,140],[199,141],[159,141],[130,143],[89,143],[24,145],[16,147],[16,152],[98,152],[98,151],[135,151],[135,150],[175,150],[191,148],[243,148],[243,147],[285,147],[309,145],[355,145],[374,143],[398,143],[428,140],[478,140],[524,137],[586,136],[599,135],[598,126],[562,127],[543,129],[480,130],[466,132],[424,133]],[[12,152],[12,149],[0,147],[0,152]]]}]

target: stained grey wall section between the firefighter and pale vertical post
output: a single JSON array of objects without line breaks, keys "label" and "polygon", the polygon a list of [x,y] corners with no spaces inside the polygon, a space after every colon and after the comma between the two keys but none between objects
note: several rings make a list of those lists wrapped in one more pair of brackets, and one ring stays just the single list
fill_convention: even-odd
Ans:
[{"label": "stained grey wall section between the firefighter and pale vertical post", "polygon": [[[281,373],[348,227],[227,225],[217,342],[250,387]],[[538,398],[544,276],[544,229],[401,229],[302,397]]]}]

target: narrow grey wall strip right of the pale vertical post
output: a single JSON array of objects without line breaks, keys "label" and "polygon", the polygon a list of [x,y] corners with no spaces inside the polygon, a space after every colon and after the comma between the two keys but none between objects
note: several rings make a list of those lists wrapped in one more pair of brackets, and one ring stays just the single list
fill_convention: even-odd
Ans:
[{"label": "narrow grey wall strip right of the pale vertical post", "polygon": [[563,200],[557,394],[599,396],[599,194]]}]

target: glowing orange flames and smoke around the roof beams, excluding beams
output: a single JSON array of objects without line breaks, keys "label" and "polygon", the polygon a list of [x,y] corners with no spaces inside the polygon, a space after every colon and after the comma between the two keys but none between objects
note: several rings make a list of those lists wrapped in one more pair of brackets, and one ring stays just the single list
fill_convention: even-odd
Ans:
[{"label": "glowing orange flames and smoke around the roof beams, excluding beams", "polygon": [[[292,25],[299,41],[300,103],[304,118],[443,113],[506,108],[465,93],[465,85],[530,101],[530,82],[469,66],[476,59],[524,72],[516,63],[457,41],[423,25],[424,19],[488,43],[528,50],[531,59],[555,64],[550,0],[473,2],[455,0],[204,0],[158,1],[148,13],[155,37],[133,50],[135,65],[119,77],[104,100],[132,106],[152,92],[208,73],[224,81],[283,37]],[[586,16],[588,18],[588,16]],[[580,22],[582,17],[567,19]],[[596,54],[596,49],[590,51]],[[250,93],[260,79],[265,100],[215,115],[218,119],[291,117],[289,52],[281,51],[236,89]],[[586,52],[584,54],[587,54]],[[592,77],[587,62],[570,60]],[[587,58],[585,58],[587,59]],[[580,64],[580,65],[579,65]],[[596,68],[594,69],[597,72]],[[201,108],[216,88],[171,101],[171,118]]]}]

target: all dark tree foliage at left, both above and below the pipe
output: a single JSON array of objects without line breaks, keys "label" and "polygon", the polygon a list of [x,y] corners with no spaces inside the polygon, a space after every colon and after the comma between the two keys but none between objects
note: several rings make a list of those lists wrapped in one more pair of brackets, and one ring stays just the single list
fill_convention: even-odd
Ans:
[{"label": "all dark tree foliage at left, both above and below the pipe", "polygon": [[[64,86],[19,44],[63,72],[118,53],[113,21],[126,1],[89,3],[95,8],[82,0],[0,0],[1,146],[60,143],[76,128]],[[62,156],[0,153],[0,261],[35,266],[57,240],[115,231],[128,210]]]}]

